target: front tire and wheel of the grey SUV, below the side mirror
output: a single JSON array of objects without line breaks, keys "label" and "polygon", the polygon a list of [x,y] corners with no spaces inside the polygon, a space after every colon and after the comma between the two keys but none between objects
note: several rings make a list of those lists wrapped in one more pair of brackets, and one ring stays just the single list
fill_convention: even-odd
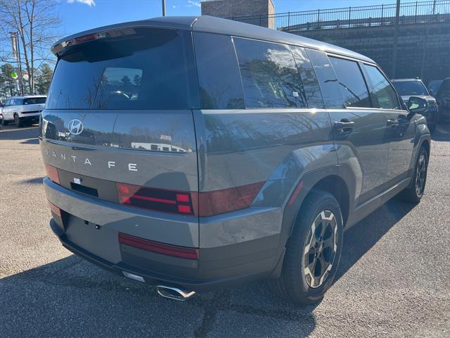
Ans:
[{"label": "front tire and wheel of the grey SUV, below the side mirror", "polygon": [[427,182],[427,173],[428,151],[425,149],[425,146],[422,146],[416,159],[416,165],[414,165],[411,182],[409,182],[408,187],[406,187],[406,189],[399,194],[402,201],[413,204],[418,204],[420,202],[425,190],[425,184]]}]

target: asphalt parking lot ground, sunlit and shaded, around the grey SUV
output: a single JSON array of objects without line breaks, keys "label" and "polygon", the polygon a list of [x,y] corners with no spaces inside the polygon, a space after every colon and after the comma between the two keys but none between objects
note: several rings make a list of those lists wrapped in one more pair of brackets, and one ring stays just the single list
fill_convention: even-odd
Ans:
[{"label": "asphalt parking lot ground, sunlit and shaded, around the grey SUV", "polygon": [[304,308],[264,282],[162,299],[63,249],[37,127],[0,131],[0,337],[450,337],[450,127],[418,206],[392,200],[345,234],[338,280]]}]

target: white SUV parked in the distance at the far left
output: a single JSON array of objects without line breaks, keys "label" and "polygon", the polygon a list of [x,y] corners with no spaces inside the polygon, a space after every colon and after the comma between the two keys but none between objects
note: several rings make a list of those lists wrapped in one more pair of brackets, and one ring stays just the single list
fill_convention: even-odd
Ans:
[{"label": "white SUV parked in the distance at the far left", "polygon": [[6,99],[3,108],[4,125],[15,123],[17,127],[25,124],[39,123],[39,116],[44,109],[46,96],[43,95],[27,95],[13,96]]}]

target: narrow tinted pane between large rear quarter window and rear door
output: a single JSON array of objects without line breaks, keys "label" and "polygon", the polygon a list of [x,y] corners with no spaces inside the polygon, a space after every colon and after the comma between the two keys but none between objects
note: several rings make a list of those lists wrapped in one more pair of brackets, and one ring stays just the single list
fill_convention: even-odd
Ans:
[{"label": "narrow tinted pane between large rear quarter window and rear door", "polygon": [[290,46],[290,50],[293,52],[295,64],[303,84],[303,94],[307,101],[309,108],[323,108],[323,99],[319,82],[317,81],[316,73],[311,65],[311,61],[304,51],[304,48],[297,46]]}]

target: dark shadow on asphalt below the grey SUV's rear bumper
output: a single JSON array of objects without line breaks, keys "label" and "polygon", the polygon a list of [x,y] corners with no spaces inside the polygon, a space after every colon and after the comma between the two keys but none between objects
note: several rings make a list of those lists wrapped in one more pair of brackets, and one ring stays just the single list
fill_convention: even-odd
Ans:
[{"label": "dark shadow on asphalt below the grey SUV's rear bumper", "polygon": [[[0,306],[2,337],[31,332],[35,337],[55,332],[70,337],[98,332],[106,337],[207,337],[212,331],[217,334],[221,325],[229,332],[224,336],[275,337],[293,322],[298,337],[306,337],[316,326],[315,306],[285,303],[264,282],[173,301],[158,296],[155,287],[113,275],[73,255],[1,279],[0,293],[4,304],[14,304],[8,310]],[[27,320],[11,322],[4,311]]]}]

